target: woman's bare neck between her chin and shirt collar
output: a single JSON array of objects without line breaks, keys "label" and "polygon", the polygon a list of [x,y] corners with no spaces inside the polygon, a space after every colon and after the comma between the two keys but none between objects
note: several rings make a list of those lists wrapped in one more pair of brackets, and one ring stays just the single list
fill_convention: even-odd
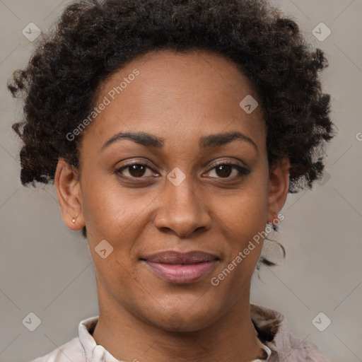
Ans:
[{"label": "woman's bare neck between her chin and shirt collar", "polygon": [[250,317],[250,286],[218,320],[194,332],[160,329],[103,293],[98,293],[98,300],[100,315],[93,338],[120,361],[247,362],[262,358]]}]

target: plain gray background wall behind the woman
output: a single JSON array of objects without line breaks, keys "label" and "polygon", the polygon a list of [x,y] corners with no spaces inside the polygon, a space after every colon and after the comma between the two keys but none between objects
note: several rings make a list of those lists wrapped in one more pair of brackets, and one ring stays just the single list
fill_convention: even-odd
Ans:
[{"label": "plain gray background wall behind the woman", "polygon": [[[6,90],[33,43],[22,30],[46,31],[69,1],[0,0],[0,361],[30,361],[76,337],[78,322],[98,315],[94,269],[86,240],[66,228],[54,185],[23,187],[19,143],[11,124],[21,105]],[[277,239],[286,247],[280,267],[264,267],[252,284],[252,303],[286,315],[293,333],[313,341],[331,361],[362,361],[362,0],[273,1],[327,52],[322,80],[332,95],[338,136],[327,148],[325,178],[313,191],[288,195]],[[313,35],[325,23],[326,40]],[[28,313],[41,324],[30,332]],[[320,332],[318,313],[332,323]],[[325,323],[321,319],[321,325]]]}]

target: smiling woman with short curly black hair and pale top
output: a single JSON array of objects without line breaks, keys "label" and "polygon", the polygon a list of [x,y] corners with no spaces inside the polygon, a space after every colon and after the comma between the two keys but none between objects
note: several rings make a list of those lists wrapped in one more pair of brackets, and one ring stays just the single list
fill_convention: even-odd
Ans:
[{"label": "smiling woman with short curly black hair and pale top", "polygon": [[250,303],[266,225],[322,176],[326,66],[262,0],[65,9],[8,88],[21,182],[83,230],[100,313],[34,361],[327,361]]}]

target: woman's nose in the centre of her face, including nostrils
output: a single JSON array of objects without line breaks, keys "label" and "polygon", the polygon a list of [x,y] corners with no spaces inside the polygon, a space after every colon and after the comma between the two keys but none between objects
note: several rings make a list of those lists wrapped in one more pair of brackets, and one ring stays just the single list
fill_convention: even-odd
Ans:
[{"label": "woman's nose in the centre of her face, including nostrils", "polygon": [[165,189],[157,198],[158,208],[153,221],[159,230],[172,230],[180,238],[186,238],[195,230],[211,228],[207,200],[197,192],[197,187],[193,187],[191,178],[186,177],[177,186],[165,181]]}]

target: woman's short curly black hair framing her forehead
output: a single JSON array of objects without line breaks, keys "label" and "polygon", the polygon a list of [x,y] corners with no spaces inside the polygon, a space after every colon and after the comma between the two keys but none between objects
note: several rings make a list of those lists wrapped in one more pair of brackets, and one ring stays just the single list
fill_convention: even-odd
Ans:
[{"label": "woman's short curly black hair framing her forehead", "polygon": [[328,63],[292,18],[264,0],[91,0],[69,4],[8,81],[24,100],[24,119],[13,124],[22,184],[54,182],[60,157],[78,168],[81,134],[66,134],[89,115],[105,78],[158,49],[202,49],[237,64],[261,100],[269,165],[284,156],[291,163],[288,192],[322,177],[334,136],[318,74]]}]

